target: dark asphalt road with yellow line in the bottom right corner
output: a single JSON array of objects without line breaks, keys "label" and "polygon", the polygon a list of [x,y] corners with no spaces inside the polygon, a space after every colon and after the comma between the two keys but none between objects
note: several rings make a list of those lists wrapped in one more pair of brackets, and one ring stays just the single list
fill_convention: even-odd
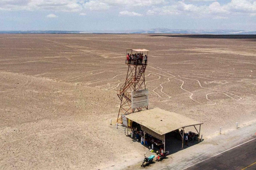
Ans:
[{"label": "dark asphalt road with yellow line in the bottom right corner", "polygon": [[234,149],[228,150],[207,159],[186,170],[193,169],[256,169],[256,139],[244,143]]}]

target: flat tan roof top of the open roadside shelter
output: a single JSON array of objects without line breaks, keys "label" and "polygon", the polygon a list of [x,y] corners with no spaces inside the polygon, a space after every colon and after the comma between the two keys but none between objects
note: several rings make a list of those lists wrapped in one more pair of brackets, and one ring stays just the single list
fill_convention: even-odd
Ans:
[{"label": "flat tan roof top of the open roadside shelter", "polygon": [[158,107],[125,115],[125,117],[160,135],[180,128],[203,124],[186,116],[174,112],[164,111]]}]

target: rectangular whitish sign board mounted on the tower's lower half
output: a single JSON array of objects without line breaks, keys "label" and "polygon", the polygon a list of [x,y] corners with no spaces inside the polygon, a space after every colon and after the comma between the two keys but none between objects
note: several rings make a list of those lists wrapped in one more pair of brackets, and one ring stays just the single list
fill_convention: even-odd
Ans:
[{"label": "rectangular whitish sign board mounted on the tower's lower half", "polygon": [[148,106],[148,89],[132,91],[132,109]]}]

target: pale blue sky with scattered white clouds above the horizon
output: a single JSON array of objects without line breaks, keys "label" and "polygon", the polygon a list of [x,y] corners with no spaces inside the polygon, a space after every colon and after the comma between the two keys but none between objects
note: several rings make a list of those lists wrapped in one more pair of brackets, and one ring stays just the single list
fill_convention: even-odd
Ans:
[{"label": "pale blue sky with scattered white clouds above the horizon", "polygon": [[256,0],[0,0],[0,30],[256,31]]}]

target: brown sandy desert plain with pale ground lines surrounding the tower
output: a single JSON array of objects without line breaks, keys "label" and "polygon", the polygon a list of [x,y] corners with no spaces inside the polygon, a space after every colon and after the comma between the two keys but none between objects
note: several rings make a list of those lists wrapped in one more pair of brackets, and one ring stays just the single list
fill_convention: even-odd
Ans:
[{"label": "brown sandy desert plain with pale ground lines surrounding the tower", "polygon": [[255,39],[0,35],[0,167],[121,169],[140,162],[147,148],[109,124],[129,48],[150,50],[149,107],[203,122],[204,142],[220,126],[255,123]]}]

